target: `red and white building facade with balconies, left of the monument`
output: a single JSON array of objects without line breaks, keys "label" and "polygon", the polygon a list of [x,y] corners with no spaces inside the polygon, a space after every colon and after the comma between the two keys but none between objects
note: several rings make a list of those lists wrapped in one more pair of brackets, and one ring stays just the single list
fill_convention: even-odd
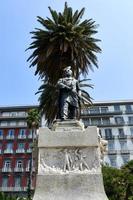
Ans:
[{"label": "red and white building facade with balconies, left of the monument", "polygon": [[[26,118],[29,109],[36,107],[0,107],[0,191],[27,192],[33,135],[27,128]],[[34,175],[32,179],[34,188]]]}]

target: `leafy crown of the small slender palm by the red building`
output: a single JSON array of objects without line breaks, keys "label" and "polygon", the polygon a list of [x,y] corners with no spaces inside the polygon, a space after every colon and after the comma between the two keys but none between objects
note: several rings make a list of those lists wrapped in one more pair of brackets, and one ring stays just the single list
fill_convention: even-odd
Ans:
[{"label": "leafy crown of the small slender palm by the red building", "polygon": [[30,109],[27,116],[27,125],[31,129],[37,129],[40,124],[40,114],[38,109]]}]

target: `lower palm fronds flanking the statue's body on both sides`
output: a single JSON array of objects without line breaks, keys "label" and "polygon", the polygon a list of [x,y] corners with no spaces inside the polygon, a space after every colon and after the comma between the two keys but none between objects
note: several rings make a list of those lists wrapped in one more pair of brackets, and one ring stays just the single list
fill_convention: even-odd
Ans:
[{"label": "lower palm fronds flanking the statue's body on both sides", "polygon": [[[84,87],[93,88],[93,85],[86,83],[90,79],[83,79],[79,81],[79,87],[81,90],[81,96],[79,96],[79,113],[81,112],[81,106],[90,106],[92,104],[92,98],[85,91]],[[53,85],[50,83],[45,83],[40,86],[38,92],[40,93],[39,103],[40,103],[40,110],[42,113],[45,114],[45,119],[47,120],[48,124],[51,124],[53,120],[57,117],[58,113],[58,99],[59,99],[59,89],[57,85]],[[54,98],[53,98],[54,97]]]}]

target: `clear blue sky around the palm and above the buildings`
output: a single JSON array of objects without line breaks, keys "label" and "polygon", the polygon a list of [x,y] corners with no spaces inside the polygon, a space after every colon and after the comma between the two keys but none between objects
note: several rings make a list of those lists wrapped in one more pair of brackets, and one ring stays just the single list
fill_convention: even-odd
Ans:
[{"label": "clear blue sky around the palm and above the buildings", "polygon": [[[0,105],[36,104],[40,81],[26,62],[29,34],[39,24],[36,16],[49,16],[48,6],[59,11],[64,0],[4,0],[0,5]],[[73,9],[86,8],[84,18],[100,25],[99,69],[90,72],[95,101],[133,99],[133,1],[68,0]]]}]

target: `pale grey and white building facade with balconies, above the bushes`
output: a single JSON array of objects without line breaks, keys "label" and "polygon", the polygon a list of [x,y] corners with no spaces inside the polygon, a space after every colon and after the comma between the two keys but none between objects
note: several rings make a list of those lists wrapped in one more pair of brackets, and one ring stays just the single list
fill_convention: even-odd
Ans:
[{"label": "pale grey and white building facade with balconies, above the bushes", "polygon": [[82,120],[108,141],[106,164],[120,168],[133,159],[133,101],[96,102],[82,109]]}]

